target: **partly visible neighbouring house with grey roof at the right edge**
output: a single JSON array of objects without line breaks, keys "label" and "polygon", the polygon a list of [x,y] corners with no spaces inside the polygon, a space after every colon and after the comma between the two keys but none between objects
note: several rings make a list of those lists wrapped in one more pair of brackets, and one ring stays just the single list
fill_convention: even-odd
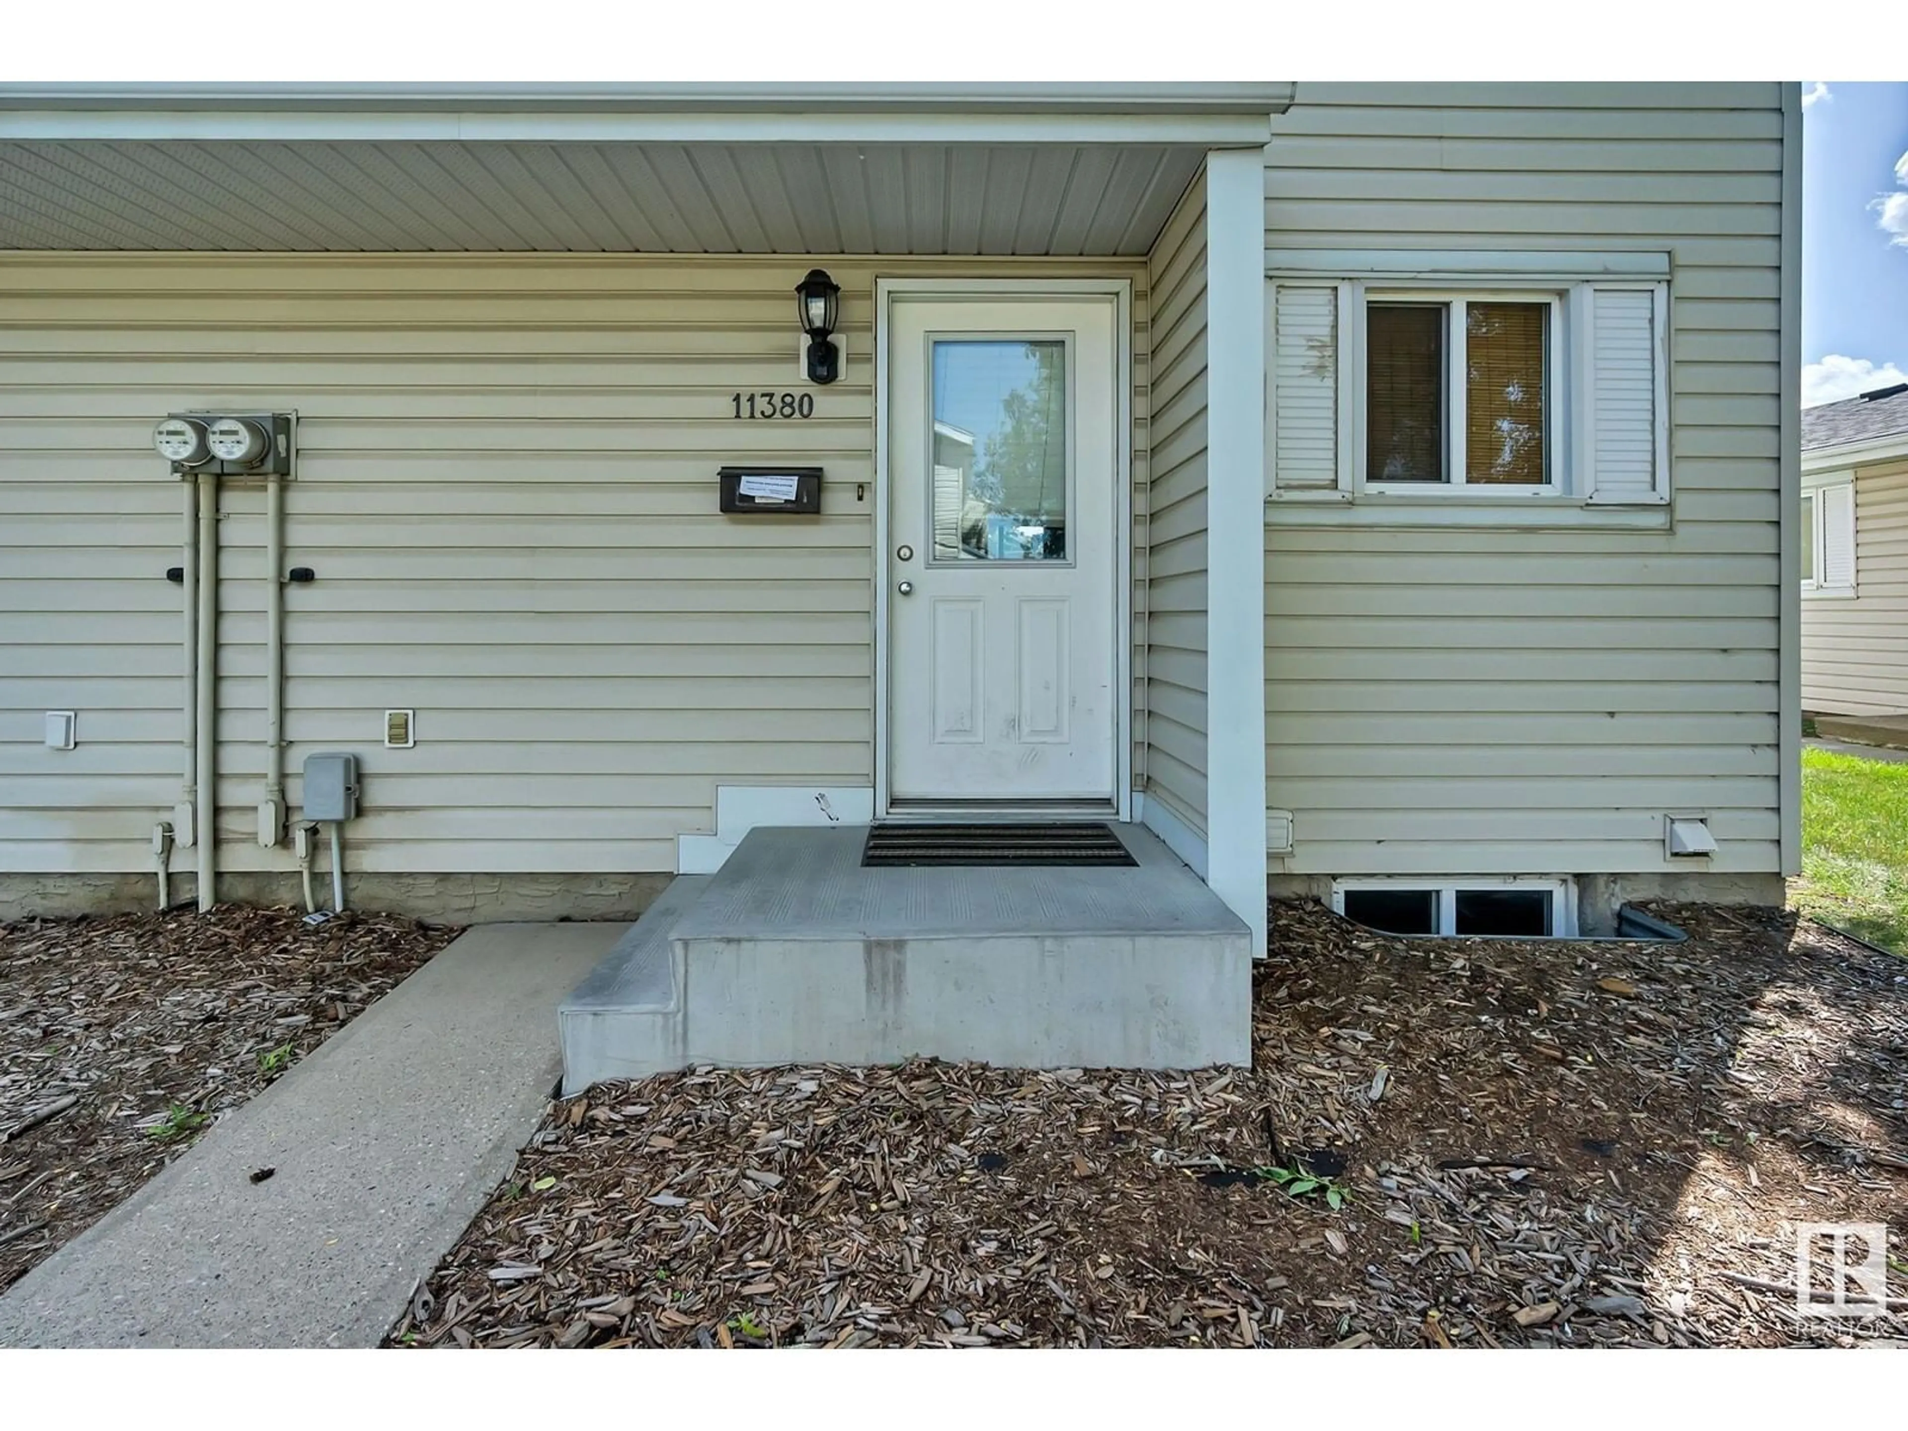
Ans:
[{"label": "partly visible neighbouring house with grey roof at the right edge", "polygon": [[1801,414],[1801,704],[1908,712],[1908,384]]}]

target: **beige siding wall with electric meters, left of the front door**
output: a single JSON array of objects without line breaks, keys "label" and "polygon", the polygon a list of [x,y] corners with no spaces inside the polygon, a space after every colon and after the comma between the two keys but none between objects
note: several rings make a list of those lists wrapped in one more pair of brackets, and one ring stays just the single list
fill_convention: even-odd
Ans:
[{"label": "beige siding wall with electric meters, left of the front door", "polygon": [[[830,259],[845,378],[798,380],[799,258],[0,258],[0,868],[147,870],[179,798],[176,408],[296,408],[288,798],[353,750],[349,864],[674,870],[717,784],[872,778],[876,275],[1126,261]],[[1143,343],[1135,467],[1145,471]],[[735,420],[735,391],[815,416]],[[716,511],[725,462],[826,467],[822,515]],[[259,849],[265,494],[227,483],[221,868]],[[80,746],[40,744],[44,710]],[[414,708],[414,750],[382,746]]]}]

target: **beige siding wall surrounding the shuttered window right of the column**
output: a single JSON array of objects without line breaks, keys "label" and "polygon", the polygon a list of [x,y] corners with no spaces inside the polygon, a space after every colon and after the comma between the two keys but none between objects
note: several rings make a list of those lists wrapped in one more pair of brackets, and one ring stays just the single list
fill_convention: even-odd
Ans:
[{"label": "beige siding wall surrounding the shuttered window right of the column", "polygon": [[1668,252],[1670,530],[1267,527],[1286,874],[1778,870],[1774,84],[1301,84],[1280,248]]}]

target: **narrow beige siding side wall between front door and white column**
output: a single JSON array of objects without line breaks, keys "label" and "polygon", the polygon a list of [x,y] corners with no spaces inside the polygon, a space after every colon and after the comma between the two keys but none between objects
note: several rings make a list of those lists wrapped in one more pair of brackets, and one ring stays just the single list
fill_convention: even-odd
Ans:
[{"label": "narrow beige siding side wall between front door and white column", "polygon": [[1152,481],[1147,492],[1147,799],[1206,834],[1206,179],[1147,261]]}]

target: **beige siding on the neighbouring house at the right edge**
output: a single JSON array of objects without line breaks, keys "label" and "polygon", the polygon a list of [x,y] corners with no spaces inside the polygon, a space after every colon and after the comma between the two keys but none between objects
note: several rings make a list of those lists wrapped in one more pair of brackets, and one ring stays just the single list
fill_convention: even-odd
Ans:
[{"label": "beige siding on the neighbouring house at the right edge", "polygon": [[1908,462],[1855,469],[1855,597],[1803,595],[1801,704],[1908,712]]}]

